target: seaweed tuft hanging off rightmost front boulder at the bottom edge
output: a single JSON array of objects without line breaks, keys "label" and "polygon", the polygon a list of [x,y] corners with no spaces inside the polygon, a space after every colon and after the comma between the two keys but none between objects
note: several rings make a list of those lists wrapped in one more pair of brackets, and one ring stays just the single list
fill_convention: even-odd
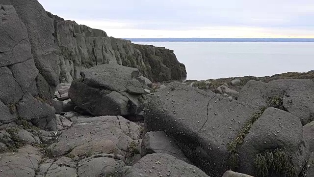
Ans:
[{"label": "seaweed tuft hanging off rightmost front boulder at the bottom edge", "polygon": [[268,149],[258,153],[253,164],[257,177],[268,177],[270,170],[285,177],[294,177],[296,175],[292,158],[285,149]]}]

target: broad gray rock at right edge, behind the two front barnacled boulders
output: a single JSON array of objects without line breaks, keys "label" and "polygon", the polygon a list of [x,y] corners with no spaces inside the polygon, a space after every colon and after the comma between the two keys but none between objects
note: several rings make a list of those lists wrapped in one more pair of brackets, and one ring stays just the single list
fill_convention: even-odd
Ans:
[{"label": "broad gray rock at right edge, behind the two front barnacled boulders", "polygon": [[314,118],[314,82],[310,79],[279,79],[267,84],[249,81],[240,90],[238,101],[286,110],[305,125]]}]

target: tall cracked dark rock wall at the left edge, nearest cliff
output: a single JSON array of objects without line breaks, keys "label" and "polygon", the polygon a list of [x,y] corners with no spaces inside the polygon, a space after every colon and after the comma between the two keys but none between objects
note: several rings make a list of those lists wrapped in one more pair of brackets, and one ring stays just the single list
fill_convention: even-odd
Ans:
[{"label": "tall cracked dark rock wall at the left edge, nearest cliff", "polygon": [[[47,15],[41,13],[45,11],[37,1],[18,2],[0,0],[0,4],[13,5],[0,5],[0,110],[4,115],[1,123],[18,118],[41,128],[55,130],[54,109],[49,103],[50,91],[57,82],[53,78],[58,76],[51,70],[57,67],[57,62],[53,60],[56,58],[48,59],[44,53],[51,50],[50,55],[53,54],[51,39],[46,31],[50,29],[49,24],[41,21]],[[39,28],[34,29],[34,24]],[[46,42],[48,48],[38,42]],[[54,66],[47,62],[53,62]],[[46,78],[38,79],[41,76]],[[44,85],[46,87],[40,87]]]}]

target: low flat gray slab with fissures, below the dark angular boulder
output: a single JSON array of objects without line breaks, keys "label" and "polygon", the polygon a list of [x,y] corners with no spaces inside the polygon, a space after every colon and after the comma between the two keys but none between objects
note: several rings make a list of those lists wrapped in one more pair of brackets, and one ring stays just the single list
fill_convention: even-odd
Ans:
[{"label": "low flat gray slab with fissures, below the dark angular boulder", "polygon": [[67,153],[74,156],[98,153],[125,155],[123,151],[127,151],[128,145],[139,139],[139,126],[119,116],[75,116],[71,120],[71,128],[62,130],[56,142],[48,147],[56,156]]}]

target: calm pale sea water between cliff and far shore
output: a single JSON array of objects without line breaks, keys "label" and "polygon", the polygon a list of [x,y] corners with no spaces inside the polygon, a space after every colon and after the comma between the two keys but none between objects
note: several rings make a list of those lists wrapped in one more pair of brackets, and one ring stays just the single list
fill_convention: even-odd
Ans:
[{"label": "calm pale sea water between cliff and far shore", "polygon": [[314,43],[306,42],[134,42],[174,50],[187,79],[271,76],[314,70]]}]

